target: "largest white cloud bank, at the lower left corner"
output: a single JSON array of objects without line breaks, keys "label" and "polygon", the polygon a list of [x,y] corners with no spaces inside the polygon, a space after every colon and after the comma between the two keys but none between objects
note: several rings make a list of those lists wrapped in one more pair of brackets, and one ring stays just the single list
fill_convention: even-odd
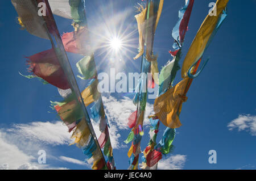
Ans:
[{"label": "largest white cloud bank, at the lower left corner", "polygon": [[33,122],[14,124],[9,129],[0,129],[0,169],[67,169],[52,167],[37,162],[38,150],[44,149],[47,158],[55,158],[46,145],[64,145],[71,142],[70,133],[61,122]]}]

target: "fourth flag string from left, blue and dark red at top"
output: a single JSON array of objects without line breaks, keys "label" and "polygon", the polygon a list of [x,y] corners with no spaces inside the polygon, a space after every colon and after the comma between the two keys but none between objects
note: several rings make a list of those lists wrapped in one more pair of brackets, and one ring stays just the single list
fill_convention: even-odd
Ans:
[{"label": "fourth flag string from left, blue and dark red at top", "polygon": [[[176,26],[174,27],[174,29],[172,31],[172,36],[175,39],[175,42],[173,45],[175,51],[172,52],[170,50],[170,53],[172,56],[174,56],[174,58],[172,61],[168,61],[167,65],[164,66],[162,68],[162,70],[160,71],[158,95],[162,95],[171,89],[172,82],[174,81],[174,78],[176,77],[177,70],[180,69],[179,60],[181,57],[181,48],[182,48],[182,44],[184,41],[185,33],[187,32],[187,27],[188,27],[189,18],[191,16],[191,12],[192,12],[193,2],[194,2],[193,0],[185,1],[185,6],[179,11],[179,21],[177,22]],[[161,105],[161,106],[163,106],[163,105]],[[170,111],[170,110],[171,110],[171,108],[168,111]],[[160,119],[162,119],[162,117],[160,117]],[[162,144],[162,142],[160,142],[159,144],[156,145],[156,136],[158,134],[159,124],[160,124],[160,120],[159,120],[158,116],[157,115],[151,116],[150,123],[151,123],[150,142],[148,144],[149,146],[143,152],[144,155],[142,156],[143,162],[142,162],[142,167],[141,167],[141,169],[148,169],[148,170],[157,169],[157,166],[158,166],[157,162],[162,158],[162,155],[159,154],[159,157],[156,157],[155,161],[152,161],[152,163],[151,163],[150,159],[154,159],[154,157],[153,158],[151,158],[151,156],[147,157],[148,153],[150,153],[150,150],[151,151],[156,150],[159,153],[168,154],[172,148],[171,143],[174,140],[174,137],[172,138],[171,136],[168,136],[170,134],[170,131],[167,131],[167,130],[169,130],[170,128],[166,128],[166,131],[164,132],[164,135],[162,137],[162,140],[164,140],[162,142],[164,144]],[[162,147],[160,147],[160,146],[162,146]],[[162,148],[164,148],[164,149],[162,149]],[[153,164],[155,164],[155,165],[153,165]]]}]

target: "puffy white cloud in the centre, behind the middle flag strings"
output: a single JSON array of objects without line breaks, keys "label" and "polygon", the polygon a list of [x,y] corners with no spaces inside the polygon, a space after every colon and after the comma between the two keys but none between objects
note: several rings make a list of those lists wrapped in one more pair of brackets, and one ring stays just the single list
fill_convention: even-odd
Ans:
[{"label": "puffy white cloud in the centre, behind the middle flag strings", "polygon": [[[127,125],[128,118],[136,111],[136,107],[133,104],[133,100],[127,97],[117,100],[113,96],[108,98],[103,96],[102,100],[105,106],[106,115],[108,115],[109,120],[117,124],[119,129],[130,129]],[[147,117],[154,113],[154,108],[152,104],[147,103],[144,125],[148,125],[149,121]]]}]

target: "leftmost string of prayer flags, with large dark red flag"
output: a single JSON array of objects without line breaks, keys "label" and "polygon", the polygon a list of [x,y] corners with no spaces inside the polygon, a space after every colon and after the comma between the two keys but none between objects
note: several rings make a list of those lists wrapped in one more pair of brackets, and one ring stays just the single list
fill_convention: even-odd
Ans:
[{"label": "leftmost string of prayer flags, with large dark red flag", "polygon": [[[88,159],[90,163],[94,163],[94,169],[107,169],[105,158],[101,152],[100,146],[98,146],[98,141],[96,139],[96,135],[94,133],[92,124],[90,123],[88,112],[86,111],[86,107],[84,107],[84,104],[81,104],[81,94],[77,86],[76,79],[73,76],[71,66],[68,62],[67,54],[65,53],[65,49],[62,44],[59,31],[57,30],[56,23],[53,18],[52,11],[49,7],[48,1],[14,0],[13,2],[16,2],[14,3],[14,6],[17,7],[19,15],[23,13],[23,11],[20,11],[20,9],[18,8],[26,6],[28,2],[32,2],[35,5],[28,6],[31,8],[31,10],[27,10],[28,15],[30,15],[30,12],[37,12],[37,5],[39,2],[46,3],[47,15],[43,16],[42,18],[42,16],[38,16],[36,14],[35,17],[42,19],[42,25],[43,27],[46,28],[48,39],[51,40],[53,48],[35,54],[34,56],[27,57],[28,64],[30,65],[30,71],[32,71],[36,77],[40,77],[58,88],[58,91],[60,95],[63,96],[64,101],[52,102],[52,105],[59,114],[60,118],[67,125],[69,132],[73,131],[72,138],[75,139],[74,144],[77,144],[77,146],[82,148],[83,153],[86,156],[86,159]],[[71,5],[76,5],[78,1],[73,0],[69,2],[71,3]],[[32,5],[32,3],[28,5]],[[31,19],[26,19],[29,17],[24,17],[22,16],[21,18],[19,18],[19,23],[22,24],[24,27],[27,26],[26,28],[29,29],[30,24],[28,23],[33,22],[34,19],[31,17]],[[23,24],[23,22],[26,23]],[[38,20],[38,22],[40,21]],[[67,77],[65,75],[67,75]],[[90,85],[89,88],[91,90],[91,88],[93,89],[93,86]],[[89,93],[86,94],[86,96],[88,95],[90,99]],[[92,98],[94,99],[94,96],[92,96]]]}]

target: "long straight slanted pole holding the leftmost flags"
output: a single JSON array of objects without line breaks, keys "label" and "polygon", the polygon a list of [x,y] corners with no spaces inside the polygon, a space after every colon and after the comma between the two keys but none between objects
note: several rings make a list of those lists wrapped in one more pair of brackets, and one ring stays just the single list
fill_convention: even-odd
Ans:
[{"label": "long straight slanted pole holding the leftmost flags", "polygon": [[[40,0],[35,0],[35,1],[38,2]],[[52,16],[51,18],[54,20],[51,8],[50,8],[49,3],[48,3],[48,0],[43,0],[43,1],[46,3],[47,10],[49,11],[49,16]],[[56,30],[57,30],[57,25],[56,25],[55,21],[54,21],[53,25],[56,27]],[[46,26],[46,23],[44,23],[44,26]],[[75,92],[76,98],[77,98],[77,102],[80,104],[80,106],[82,108],[82,112],[85,115],[85,119],[86,119],[85,123],[86,123],[86,125],[88,125],[90,134],[92,134],[93,140],[96,142],[97,149],[100,150],[101,157],[102,157],[102,159],[104,159],[104,164],[106,166],[106,160],[105,160],[104,154],[102,153],[100,144],[98,143],[98,140],[97,140],[97,137],[96,137],[96,133],[94,132],[94,129],[93,129],[93,126],[92,126],[92,122],[90,121],[90,117],[89,117],[88,111],[86,110],[86,106],[85,106],[84,101],[82,99],[82,96],[81,96],[81,93],[80,93],[80,90],[79,90],[79,86],[77,85],[76,78],[75,78],[75,75],[73,74],[70,62],[68,60],[67,53],[65,52],[65,48],[64,48],[64,45],[62,43],[59,31],[57,31],[57,36],[54,36],[55,40],[56,40],[56,41],[54,41],[51,33],[49,33],[49,31],[48,31],[47,26],[46,26],[46,30],[47,30],[47,33],[49,35],[49,39],[51,40],[52,46],[55,49],[55,52],[56,52],[56,54],[57,54],[57,56],[59,58],[59,62],[60,62],[61,68],[63,68],[64,73],[67,76],[69,85],[71,86],[71,89]],[[57,48],[59,48],[60,50],[58,50]]]}]

